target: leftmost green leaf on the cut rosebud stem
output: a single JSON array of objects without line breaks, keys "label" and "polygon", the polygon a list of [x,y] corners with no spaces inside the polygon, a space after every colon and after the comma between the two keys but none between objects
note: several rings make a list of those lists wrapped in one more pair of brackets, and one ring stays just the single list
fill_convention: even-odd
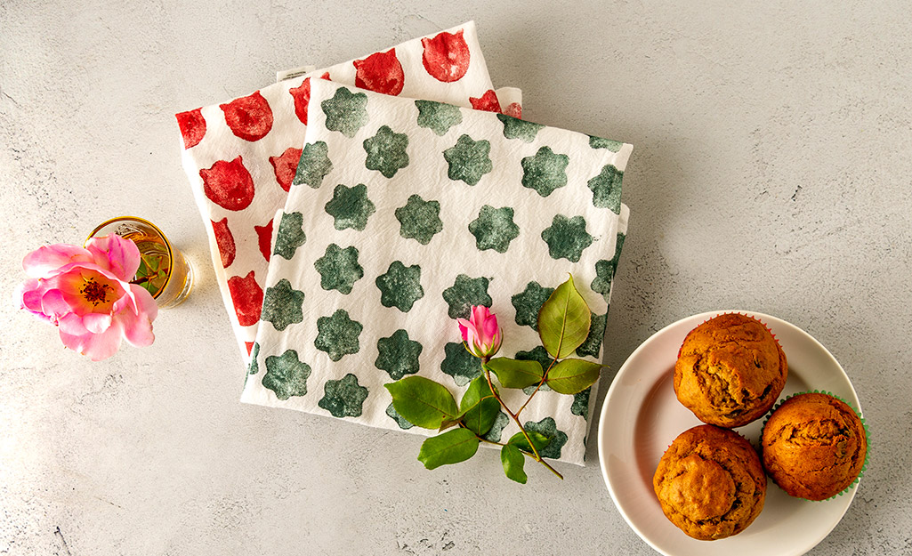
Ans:
[{"label": "leftmost green leaf on the cut rosebud stem", "polygon": [[450,390],[423,376],[406,376],[383,386],[393,396],[396,412],[412,425],[439,428],[444,421],[459,416]]}]

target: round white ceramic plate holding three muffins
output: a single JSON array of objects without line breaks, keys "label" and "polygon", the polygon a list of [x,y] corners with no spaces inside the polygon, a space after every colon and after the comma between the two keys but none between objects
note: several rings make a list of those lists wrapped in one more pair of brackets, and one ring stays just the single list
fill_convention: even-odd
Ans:
[{"label": "round white ceramic plate holding three muffins", "polygon": [[[732,312],[695,314],[652,335],[618,370],[602,407],[598,456],[611,498],[630,527],[666,556],[798,556],[824,540],[855,497],[857,483],[834,499],[796,499],[770,479],[760,516],[740,534],[720,541],[691,539],[662,513],[652,489],[658,460],[681,432],[702,424],[675,397],[672,376],[678,349],[698,324]],[[759,318],[782,345],[789,376],[780,399],[803,390],[825,390],[861,410],[845,371],[811,335],[773,316],[738,313]],[[736,430],[758,447],[764,419]]]}]

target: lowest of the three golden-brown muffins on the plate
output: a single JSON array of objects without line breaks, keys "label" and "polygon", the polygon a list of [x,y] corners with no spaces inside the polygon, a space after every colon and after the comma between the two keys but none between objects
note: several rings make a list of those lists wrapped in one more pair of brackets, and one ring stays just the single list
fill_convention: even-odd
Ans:
[{"label": "lowest of the three golden-brown muffins on the plate", "polygon": [[690,537],[715,541],[751,524],[763,509],[766,475],[751,443],[700,425],[675,438],[652,478],[665,516]]}]

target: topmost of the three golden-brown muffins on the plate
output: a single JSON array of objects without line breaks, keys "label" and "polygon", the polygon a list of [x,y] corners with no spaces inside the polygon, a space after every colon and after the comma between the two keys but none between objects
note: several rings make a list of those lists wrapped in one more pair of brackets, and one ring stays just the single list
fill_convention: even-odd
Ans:
[{"label": "topmost of the three golden-brown muffins on the plate", "polygon": [[684,338],[675,394],[704,423],[743,427],[776,403],[788,369],[782,347],[764,324],[744,314],[720,314]]}]

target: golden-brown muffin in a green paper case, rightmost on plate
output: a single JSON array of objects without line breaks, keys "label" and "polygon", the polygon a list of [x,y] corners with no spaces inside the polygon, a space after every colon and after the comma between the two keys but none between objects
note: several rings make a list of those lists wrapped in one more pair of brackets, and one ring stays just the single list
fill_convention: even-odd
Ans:
[{"label": "golden-brown muffin in a green paper case, rightmost on plate", "polygon": [[865,425],[852,407],[826,394],[782,402],[763,427],[763,467],[794,497],[823,500],[855,482],[865,466]]}]

